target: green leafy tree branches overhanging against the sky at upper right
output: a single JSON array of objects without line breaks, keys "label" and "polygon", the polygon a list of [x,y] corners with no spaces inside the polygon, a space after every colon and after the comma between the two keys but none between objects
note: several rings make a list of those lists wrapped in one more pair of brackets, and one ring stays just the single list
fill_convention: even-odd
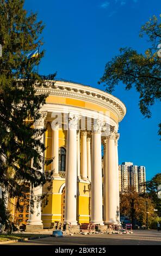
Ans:
[{"label": "green leafy tree branches overhanging against the sky at upper right", "polygon": [[[157,54],[157,46],[161,42],[161,23],[156,16],[141,27],[140,36],[143,35],[148,36],[152,47],[144,54],[132,48],[121,48],[120,55],[106,64],[98,84],[106,83],[104,86],[108,93],[112,93],[119,82],[125,84],[126,90],[135,86],[140,94],[140,111],[145,117],[150,118],[150,107],[161,99],[161,58]],[[161,134],[160,130],[158,133]]]}]

